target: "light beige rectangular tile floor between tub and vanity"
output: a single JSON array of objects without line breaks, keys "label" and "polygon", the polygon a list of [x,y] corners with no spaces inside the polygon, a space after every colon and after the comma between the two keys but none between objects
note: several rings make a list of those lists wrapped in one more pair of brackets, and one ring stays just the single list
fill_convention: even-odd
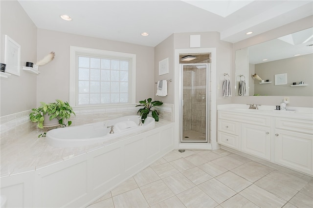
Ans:
[{"label": "light beige rectangular tile floor between tub and vanity", "polygon": [[88,208],[312,208],[313,177],[224,149],[174,150]]}]

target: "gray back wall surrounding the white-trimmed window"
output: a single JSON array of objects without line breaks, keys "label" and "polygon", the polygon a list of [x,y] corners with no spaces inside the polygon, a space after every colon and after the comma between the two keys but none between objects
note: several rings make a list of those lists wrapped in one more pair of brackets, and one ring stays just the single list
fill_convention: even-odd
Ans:
[{"label": "gray back wall surrounding the white-trimmed window", "polygon": [[136,54],[135,101],[154,96],[154,47],[38,29],[38,58],[54,51],[55,59],[39,68],[37,104],[69,100],[70,45]]}]

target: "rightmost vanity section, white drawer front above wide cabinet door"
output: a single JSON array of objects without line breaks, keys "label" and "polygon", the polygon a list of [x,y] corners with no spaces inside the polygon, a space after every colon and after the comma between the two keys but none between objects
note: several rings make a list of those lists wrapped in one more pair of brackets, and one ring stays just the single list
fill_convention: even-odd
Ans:
[{"label": "rightmost vanity section, white drawer front above wide cabinet door", "polygon": [[275,119],[275,163],[313,173],[313,121]]}]

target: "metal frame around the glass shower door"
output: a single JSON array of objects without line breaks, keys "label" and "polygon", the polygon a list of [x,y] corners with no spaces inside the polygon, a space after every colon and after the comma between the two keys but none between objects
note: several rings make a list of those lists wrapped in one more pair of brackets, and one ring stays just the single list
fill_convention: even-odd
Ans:
[{"label": "metal frame around the glass shower door", "polygon": [[[184,66],[205,66],[206,67],[206,83],[205,83],[205,141],[203,140],[185,140],[183,141],[183,67]],[[210,63],[180,63],[179,64],[179,85],[180,85],[180,101],[179,106],[179,142],[180,143],[209,143],[210,142]]]}]

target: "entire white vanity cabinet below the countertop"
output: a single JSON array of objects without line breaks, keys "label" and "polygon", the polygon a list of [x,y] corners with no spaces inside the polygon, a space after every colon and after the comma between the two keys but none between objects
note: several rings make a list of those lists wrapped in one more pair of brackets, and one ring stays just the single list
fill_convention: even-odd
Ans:
[{"label": "entire white vanity cabinet below the countertop", "polygon": [[313,175],[312,119],[218,111],[218,143]]}]

